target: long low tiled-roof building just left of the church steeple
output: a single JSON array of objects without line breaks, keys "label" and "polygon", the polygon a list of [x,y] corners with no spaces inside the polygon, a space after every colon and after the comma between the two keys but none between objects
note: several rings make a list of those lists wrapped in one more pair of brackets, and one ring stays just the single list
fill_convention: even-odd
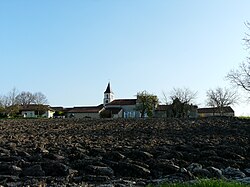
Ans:
[{"label": "long low tiled-roof building just left of the church steeple", "polygon": [[98,106],[74,107],[67,111],[68,118],[100,118],[100,113],[104,110],[103,104]]}]

